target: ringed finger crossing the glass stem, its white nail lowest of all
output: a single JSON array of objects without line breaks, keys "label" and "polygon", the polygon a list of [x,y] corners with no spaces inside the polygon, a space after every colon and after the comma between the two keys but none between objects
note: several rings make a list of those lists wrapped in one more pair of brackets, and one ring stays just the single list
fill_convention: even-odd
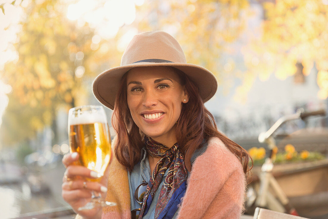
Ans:
[{"label": "ringed finger crossing the glass stem, its white nail lowest of all", "polygon": [[87,182],[83,180],[75,180],[70,182],[64,182],[62,184],[63,190],[74,190],[74,189],[89,189],[97,192],[107,192],[107,188],[98,182]]}]

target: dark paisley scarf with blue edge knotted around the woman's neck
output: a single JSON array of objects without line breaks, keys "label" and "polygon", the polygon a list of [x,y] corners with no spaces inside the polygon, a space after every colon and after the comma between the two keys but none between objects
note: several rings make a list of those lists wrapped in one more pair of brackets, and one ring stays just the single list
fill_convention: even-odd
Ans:
[{"label": "dark paisley scarf with blue edge knotted around the woman's neck", "polygon": [[172,218],[186,192],[187,169],[184,164],[184,156],[177,143],[168,148],[148,136],[145,136],[145,143],[147,153],[161,159],[157,162],[148,182],[139,219],[148,212],[166,169],[169,169],[169,171],[159,193],[155,208],[155,219]]}]

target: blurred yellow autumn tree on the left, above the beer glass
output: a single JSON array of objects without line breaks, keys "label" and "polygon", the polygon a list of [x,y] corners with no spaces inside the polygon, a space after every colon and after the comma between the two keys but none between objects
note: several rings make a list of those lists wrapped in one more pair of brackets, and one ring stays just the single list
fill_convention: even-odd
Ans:
[{"label": "blurred yellow autumn tree on the left, above the beer glass", "polygon": [[68,20],[64,9],[52,0],[32,1],[25,9],[15,45],[19,59],[1,72],[1,80],[12,87],[1,125],[4,145],[33,138],[45,126],[55,132],[58,109],[86,104],[102,59],[117,53],[110,44],[100,50],[102,40],[94,30]]}]

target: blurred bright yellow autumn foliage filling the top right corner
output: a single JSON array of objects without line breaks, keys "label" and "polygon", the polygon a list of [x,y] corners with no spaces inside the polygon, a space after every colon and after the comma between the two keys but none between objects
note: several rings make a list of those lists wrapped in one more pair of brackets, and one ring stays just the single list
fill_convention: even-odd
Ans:
[{"label": "blurred bright yellow autumn foliage filling the top right corner", "polygon": [[[276,0],[262,2],[264,17],[254,40],[242,52],[247,71],[237,90],[239,99],[256,77],[271,74],[285,80],[297,72],[304,76],[318,70],[318,97],[328,97],[328,3],[327,1]],[[249,33],[252,35],[252,33]]]}]

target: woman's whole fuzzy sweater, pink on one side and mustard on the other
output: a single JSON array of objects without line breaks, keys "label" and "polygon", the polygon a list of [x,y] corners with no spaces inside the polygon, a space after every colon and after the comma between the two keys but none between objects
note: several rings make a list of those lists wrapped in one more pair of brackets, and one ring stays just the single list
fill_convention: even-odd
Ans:
[{"label": "woman's whole fuzzy sweater, pink on one side and mustard on the other", "polygon": [[[102,218],[131,218],[130,193],[125,168],[111,163],[107,201],[118,205],[103,209]],[[245,175],[238,158],[216,137],[196,158],[180,204],[178,219],[240,218],[245,197]]]}]

